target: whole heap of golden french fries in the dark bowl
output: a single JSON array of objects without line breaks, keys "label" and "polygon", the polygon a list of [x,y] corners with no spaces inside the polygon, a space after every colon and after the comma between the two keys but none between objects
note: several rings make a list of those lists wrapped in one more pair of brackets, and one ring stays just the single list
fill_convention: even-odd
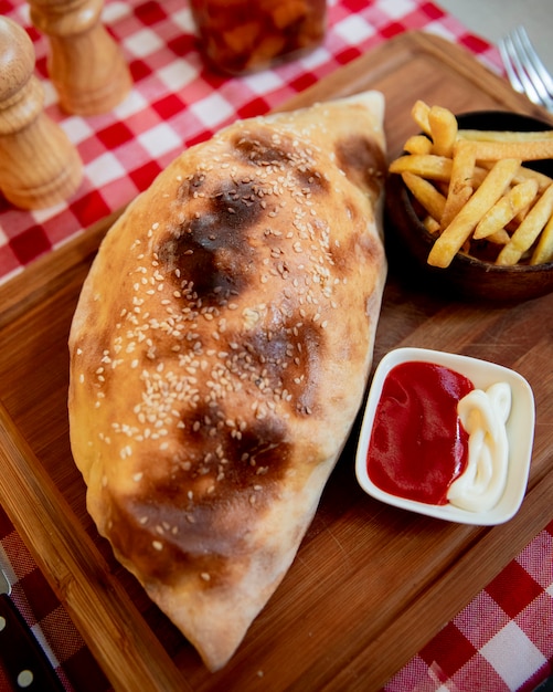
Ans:
[{"label": "whole heap of golden french fries in the dark bowl", "polygon": [[423,134],[389,170],[437,237],[428,264],[446,268],[459,251],[504,265],[553,262],[553,178],[523,165],[553,158],[553,129],[460,129],[449,109],[424,101],[412,117]]}]

